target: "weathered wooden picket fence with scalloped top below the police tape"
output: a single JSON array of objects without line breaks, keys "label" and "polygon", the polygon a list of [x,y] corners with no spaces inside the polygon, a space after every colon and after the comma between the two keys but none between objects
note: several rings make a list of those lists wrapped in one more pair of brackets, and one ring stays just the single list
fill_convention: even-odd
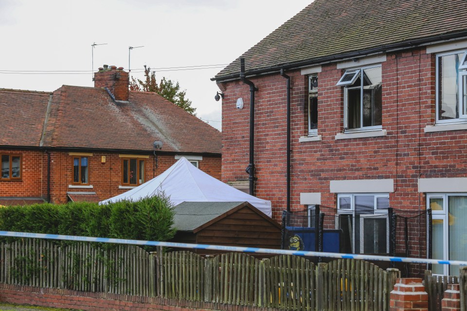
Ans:
[{"label": "weathered wooden picket fence with scalloped top below the police tape", "polygon": [[400,276],[372,263],[297,256],[148,253],[133,245],[24,239],[0,244],[0,282],[304,311],[386,311]]}]

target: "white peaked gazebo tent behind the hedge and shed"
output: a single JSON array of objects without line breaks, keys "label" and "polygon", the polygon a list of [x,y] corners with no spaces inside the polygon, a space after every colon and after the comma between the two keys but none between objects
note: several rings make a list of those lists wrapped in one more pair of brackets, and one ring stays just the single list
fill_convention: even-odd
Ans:
[{"label": "white peaked gazebo tent behind the hedge and shed", "polygon": [[269,217],[272,216],[270,201],[259,199],[217,180],[196,168],[184,157],[143,185],[101,201],[100,204],[120,200],[137,201],[162,191],[170,196],[174,205],[182,202],[249,202]]}]

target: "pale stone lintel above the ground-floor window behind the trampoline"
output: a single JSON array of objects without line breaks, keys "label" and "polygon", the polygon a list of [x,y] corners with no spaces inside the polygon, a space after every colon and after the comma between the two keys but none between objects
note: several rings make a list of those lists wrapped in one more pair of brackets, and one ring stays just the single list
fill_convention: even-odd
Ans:
[{"label": "pale stone lintel above the ground-floor window behind the trampoline", "polygon": [[394,179],[331,180],[332,193],[386,193],[394,192]]}]

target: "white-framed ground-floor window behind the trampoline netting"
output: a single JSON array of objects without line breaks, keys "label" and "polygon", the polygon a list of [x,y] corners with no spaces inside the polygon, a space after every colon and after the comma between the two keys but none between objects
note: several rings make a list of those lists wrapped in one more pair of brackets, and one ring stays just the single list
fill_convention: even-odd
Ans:
[{"label": "white-framed ground-floor window behind the trampoline netting", "polygon": [[337,229],[351,237],[353,253],[389,253],[388,193],[340,193],[337,208]]}]

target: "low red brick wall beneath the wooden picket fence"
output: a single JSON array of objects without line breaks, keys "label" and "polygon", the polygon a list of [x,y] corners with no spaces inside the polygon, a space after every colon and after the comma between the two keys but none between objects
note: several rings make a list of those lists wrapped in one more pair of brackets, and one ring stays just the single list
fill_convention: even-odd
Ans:
[{"label": "low red brick wall beneath the wooden picket fence", "polygon": [[0,301],[85,311],[275,311],[278,309],[226,305],[181,299],[90,293],[52,288],[0,284]]}]

